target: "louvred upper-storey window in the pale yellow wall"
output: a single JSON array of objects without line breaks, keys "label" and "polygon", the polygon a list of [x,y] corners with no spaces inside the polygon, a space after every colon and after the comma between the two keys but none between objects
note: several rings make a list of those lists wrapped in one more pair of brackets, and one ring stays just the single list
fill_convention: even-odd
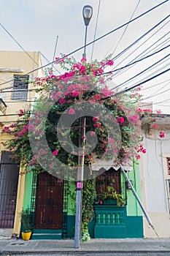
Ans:
[{"label": "louvred upper-storey window in the pale yellow wall", "polygon": [[28,95],[28,75],[14,75],[12,100],[26,101]]}]

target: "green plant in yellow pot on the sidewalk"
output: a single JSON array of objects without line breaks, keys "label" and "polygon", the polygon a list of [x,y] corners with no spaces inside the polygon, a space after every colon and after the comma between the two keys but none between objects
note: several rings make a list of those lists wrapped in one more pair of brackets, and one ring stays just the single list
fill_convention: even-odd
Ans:
[{"label": "green plant in yellow pot on the sidewalk", "polygon": [[31,237],[31,211],[29,208],[23,209],[20,212],[20,220],[22,224],[22,238],[29,240]]}]

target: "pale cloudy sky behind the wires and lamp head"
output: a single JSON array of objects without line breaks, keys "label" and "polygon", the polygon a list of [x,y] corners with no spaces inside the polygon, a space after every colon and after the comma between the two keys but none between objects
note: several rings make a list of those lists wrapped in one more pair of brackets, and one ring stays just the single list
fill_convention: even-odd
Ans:
[{"label": "pale cloudy sky behind the wires and lamp head", "polygon": [[[161,2],[163,0],[0,0],[0,23],[24,50],[42,53],[42,63],[45,65],[47,60],[53,61],[54,51],[55,56],[60,56],[60,53],[69,54],[83,47],[85,24],[82,8],[85,5],[93,7],[93,16],[88,26],[88,43],[128,23],[130,19],[142,15]],[[169,10],[170,2],[166,1],[128,26],[123,26],[87,46],[88,61],[101,61],[111,54],[115,69],[154,53],[131,65],[131,68],[125,67],[121,72],[114,72],[112,82],[108,83],[109,88],[114,90],[118,86],[117,89],[121,91],[169,69]],[[2,26],[0,50],[22,50]],[[152,29],[154,26],[155,29]],[[150,29],[152,31],[148,32]],[[142,37],[145,33],[146,36]],[[138,42],[129,48],[137,39]],[[163,48],[166,49],[162,50]],[[158,50],[161,51],[156,53]],[[80,61],[82,53],[83,49],[72,56]],[[153,66],[150,67],[151,65]],[[146,70],[143,71],[144,69]],[[108,70],[110,69],[106,71]],[[161,109],[163,113],[170,113],[169,74],[170,72],[166,72],[144,83],[141,91],[144,95],[143,102],[152,102],[153,109]]]}]

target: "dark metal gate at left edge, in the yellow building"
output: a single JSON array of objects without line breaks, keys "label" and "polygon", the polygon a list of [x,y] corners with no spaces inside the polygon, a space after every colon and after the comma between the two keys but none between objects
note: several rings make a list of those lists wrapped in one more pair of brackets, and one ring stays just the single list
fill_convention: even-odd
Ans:
[{"label": "dark metal gate at left edge, in the yellow building", "polygon": [[12,152],[1,152],[0,228],[12,228],[18,188],[19,167],[11,159]]}]

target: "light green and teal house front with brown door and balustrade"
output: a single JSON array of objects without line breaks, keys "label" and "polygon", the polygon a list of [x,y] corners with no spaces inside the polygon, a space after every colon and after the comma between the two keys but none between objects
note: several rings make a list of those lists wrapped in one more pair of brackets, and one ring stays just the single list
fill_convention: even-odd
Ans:
[{"label": "light green and teal house front with brown door and balustrade", "polygon": [[[134,165],[127,175],[141,199],[139,165]],[[88,224],[91,238],[143,237],[142,211],[123,173],[120,173],[120,181],[125,205],[101,205],[94,200],[94,217]],[[40,173],[38,176],[28,173],[23,208],[31,209],[31,238],[74,238],[75,201],[74,182],[59,180],[48,173]]]}]

